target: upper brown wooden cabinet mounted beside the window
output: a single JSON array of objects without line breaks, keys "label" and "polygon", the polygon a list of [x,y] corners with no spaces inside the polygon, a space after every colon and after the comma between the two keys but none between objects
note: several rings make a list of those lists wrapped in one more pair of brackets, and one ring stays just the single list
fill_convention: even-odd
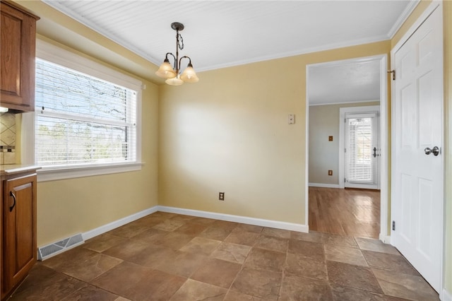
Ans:
[{"label": "upper brown wooden cabinet mounted beside the window", "polygon": [[0,106],[35,110],[37,16],[1,1]]}]

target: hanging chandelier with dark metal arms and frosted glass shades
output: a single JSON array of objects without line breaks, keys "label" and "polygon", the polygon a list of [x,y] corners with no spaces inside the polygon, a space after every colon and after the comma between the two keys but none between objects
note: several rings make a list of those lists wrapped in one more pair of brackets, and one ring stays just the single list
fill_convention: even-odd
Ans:
[{"label": "hanging chandelier with dark metal arms and frosted glass shades", "polygon": [[[168,85],[182,85],[182,83],[196,83],[199,81],[198,76],[196,76],[196,72],[193,69],[193,65],[191,64],[191,59],[189,57],[181,57],[179,59],[179,49],[184,49],[184,39],[182,39],[182,35],[179,31],[184,30],[184,24],[179,22],[171,23],[171,28],[176,30],[176,56],[171,52],[167,52],[165,56],[165,60],[160,65],[160,68],[155,72],[157,76],[161,78],[167,78],[165,83]],[[168,55],[171,55],[174,59],[174,66],[169,64]],[[186,69],[182,74],[179,74],[181,71],[181,61],[182,59],[189,59],[189,64],[186,66]]]}]

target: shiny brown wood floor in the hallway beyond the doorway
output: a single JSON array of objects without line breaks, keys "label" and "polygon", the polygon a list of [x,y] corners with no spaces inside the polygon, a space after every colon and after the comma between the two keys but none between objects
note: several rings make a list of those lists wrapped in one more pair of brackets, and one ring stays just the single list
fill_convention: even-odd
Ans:
[{"label": "shiny brown wood floor in the hallway beyond the doorway", "polygon": [[309,187],[309,230],[379,238],[380,191]]}]

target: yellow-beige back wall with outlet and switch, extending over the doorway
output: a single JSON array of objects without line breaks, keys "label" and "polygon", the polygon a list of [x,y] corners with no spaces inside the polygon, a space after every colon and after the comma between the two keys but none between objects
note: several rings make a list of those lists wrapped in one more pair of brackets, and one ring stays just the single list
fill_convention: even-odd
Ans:
[{"label": "yellow-beige back wall with outlet and switch, extending over the doorway", "polygon": [[[378,42],[199,73],[160,86],[159,204],[305,225],[306,66]],[[286,70],[285,76],[268,76]],[[287,124],[295,114],[295,124]],[[225,191],[225,201],[218,192]]]}]

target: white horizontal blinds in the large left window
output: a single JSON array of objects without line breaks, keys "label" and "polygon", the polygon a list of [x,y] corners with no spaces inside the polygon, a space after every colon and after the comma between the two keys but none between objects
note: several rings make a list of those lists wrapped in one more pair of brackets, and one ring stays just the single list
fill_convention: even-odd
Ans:
[{"label": "white horizontal blinds in the large left window", "polygon": [[37,164],[136,160],[136,91],[37,59],[35,104]]}]

